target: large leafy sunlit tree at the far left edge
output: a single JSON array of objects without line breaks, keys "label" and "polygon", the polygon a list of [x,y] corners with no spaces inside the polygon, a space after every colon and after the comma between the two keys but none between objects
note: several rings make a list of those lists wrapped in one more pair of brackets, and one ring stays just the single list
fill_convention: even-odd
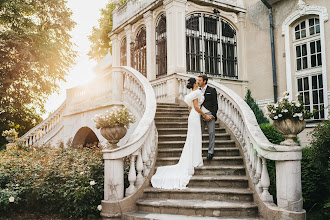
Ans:
[{"label": "large leafy sunlit tree at the far left edge", "polygon": [[71,15],[65,0],[0,0],[0,131],[41,120],[76,57]]}]

